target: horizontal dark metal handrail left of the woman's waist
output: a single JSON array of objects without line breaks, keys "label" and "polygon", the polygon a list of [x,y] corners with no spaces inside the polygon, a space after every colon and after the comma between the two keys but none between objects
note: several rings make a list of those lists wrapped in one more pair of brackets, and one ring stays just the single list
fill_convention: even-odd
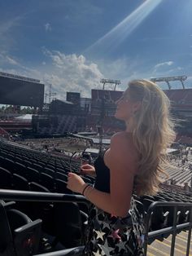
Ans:
[{"label": "horizontal dark metal handrail left of the woman's waist", "polygon": [[89,205],[85,196],[69,195],[51,192],[28,192],[22,190],[0,189],[0,199],[13,201],[41,201],[41,202],[77,202]]}]

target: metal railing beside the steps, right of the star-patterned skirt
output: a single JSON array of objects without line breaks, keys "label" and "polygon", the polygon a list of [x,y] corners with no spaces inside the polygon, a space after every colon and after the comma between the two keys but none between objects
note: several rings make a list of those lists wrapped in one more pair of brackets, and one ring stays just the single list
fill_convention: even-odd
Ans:
[{"label": "metal railing beside the steps, right of the star-patterned skirt", "polygon": [[[173,224],[172,227],[166,227],[163,229],[159,229],[153,232],[149,232],[149,223],[151,219],[151,214],[155,210],[155,208],[159,206],[169,206],[172,207],[174,212],[173,212]],[[190,208],[190,222],[188,223],[183,223],[183,224],[178,224],[177,225],[177,208],[178,207],[189,207]],[[190,236],[191,236],[191,228],[192,228],[192,203],[184,203],[184,202],[165,202],[165,201],[155,201],[153,202],[147,213],[146,213],[146,222],[145,222],[145,235],[144,235],[144,254],[146,255],[147,253],[147,245],[149,238],[157,238],[159,235],[162,234],[172,234],[172,244],[171,244],[171,252],[170,256],[174,255],[174,247],[175,247],[175,239],[177,235],[177,231],[182,230],[184,228],[189,228],[189,233],[188,233],[188,238],[187,238],[187,246],[186,246],[186,256],[189,256],[190,254]]]}]

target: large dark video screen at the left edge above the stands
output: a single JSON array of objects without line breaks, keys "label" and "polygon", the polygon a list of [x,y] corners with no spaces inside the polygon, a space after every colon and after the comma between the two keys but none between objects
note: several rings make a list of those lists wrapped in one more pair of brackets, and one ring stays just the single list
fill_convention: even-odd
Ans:
[{"label": "large dark video screen at the left edge above the stands", "polygon": [[0,76],[0,104],[42,107],[44,84]]}]

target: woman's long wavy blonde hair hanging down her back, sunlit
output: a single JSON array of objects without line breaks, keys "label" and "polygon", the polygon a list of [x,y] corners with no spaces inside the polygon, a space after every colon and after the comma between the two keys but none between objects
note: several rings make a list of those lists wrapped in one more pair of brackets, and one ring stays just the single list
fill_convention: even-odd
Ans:
[{"label": "woman's long wavy blonde hair hanging down her back, sunlit", "polygon": [[[134,179],[137,195],[155,195],[163,182],[167,148],[175,139],[170,117],[170,101],[163,90],[151,81],[129,82],[129,95],[141,107],[133,115],[133,143],[139,154],[138,172]],[[168,175],[167,175],[168,176]]]}]

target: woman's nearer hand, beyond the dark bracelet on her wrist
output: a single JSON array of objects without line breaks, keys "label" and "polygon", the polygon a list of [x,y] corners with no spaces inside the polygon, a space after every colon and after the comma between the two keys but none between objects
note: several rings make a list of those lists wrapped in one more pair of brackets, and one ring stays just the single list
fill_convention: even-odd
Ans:
[{"label": "woman's nearer hand, beyond the dark bracelet on her wrist", "polygon": [[67,188],[73,192],[82,193],[85,186],[85,181],[77,174],[68,173]]}]

